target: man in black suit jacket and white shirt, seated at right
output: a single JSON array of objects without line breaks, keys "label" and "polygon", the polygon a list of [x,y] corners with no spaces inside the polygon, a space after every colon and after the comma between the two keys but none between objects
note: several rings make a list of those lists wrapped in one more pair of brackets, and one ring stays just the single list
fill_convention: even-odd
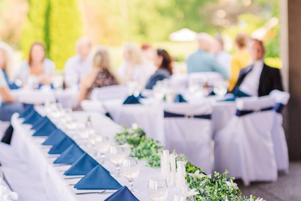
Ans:
[{"label": "man in black suit jacket and white shirt, seated at right", "polygon": [[244,93],[250,96],[269,95],[272,90],[283,91],[280,70],[263,62],[265,49],[262,41],[251,40],[249,52],[252,63],[240,71],[233,93]]}]

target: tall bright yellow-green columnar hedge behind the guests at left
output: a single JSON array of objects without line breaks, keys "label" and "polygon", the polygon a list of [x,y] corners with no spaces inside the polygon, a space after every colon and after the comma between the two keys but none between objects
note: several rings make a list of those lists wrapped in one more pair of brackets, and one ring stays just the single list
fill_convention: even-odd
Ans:
[{"label": "tall bright yellow-green columnar hedge behind the guests at left", "polygon": [[66,60],[75,53],[76,40],[82,35],[78,0],[28,0],[28,3],[28,19],[20,41],[24,58],[28,58],[31,44],[41,41],[56,68],[64,68]]}]

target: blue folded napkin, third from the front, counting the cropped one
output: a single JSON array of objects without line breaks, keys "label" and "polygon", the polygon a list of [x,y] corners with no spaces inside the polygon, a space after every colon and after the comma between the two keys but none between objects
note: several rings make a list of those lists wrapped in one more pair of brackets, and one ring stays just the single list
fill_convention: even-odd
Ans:
[{"label": "blue folded napkin, third from the front, counting the cropped one", "polygon": [[84,153],[72,166],[64,173],[64,175],[86,175],[95,166],[99,165],[96,160],[92,159],[87,153]]}]

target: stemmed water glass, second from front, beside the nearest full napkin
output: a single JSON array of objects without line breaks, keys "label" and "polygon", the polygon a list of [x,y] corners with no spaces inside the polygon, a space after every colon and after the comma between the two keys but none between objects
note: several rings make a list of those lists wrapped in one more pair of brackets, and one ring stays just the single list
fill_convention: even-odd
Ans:
[{"label": "stemmed water glass, second from front, beside the nearest full napkin", "polygon": [[129,181],[129,190],[133,193],[138,192],[133,187],[134,180],[139,175],[139,164],[138,164],[138,158],[125,158],[122,161],[122,174],[123,176]]}]

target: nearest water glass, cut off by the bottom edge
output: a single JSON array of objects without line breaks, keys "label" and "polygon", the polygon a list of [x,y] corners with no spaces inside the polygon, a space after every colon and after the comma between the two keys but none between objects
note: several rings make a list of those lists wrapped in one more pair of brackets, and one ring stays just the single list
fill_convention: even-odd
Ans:
[{"label": "nearest water glass, cut off by the bottom edge", "polygon": [[148,197],[151,201],[165,201],[168,196],[166,179],[152,178],[148,180]]}]

